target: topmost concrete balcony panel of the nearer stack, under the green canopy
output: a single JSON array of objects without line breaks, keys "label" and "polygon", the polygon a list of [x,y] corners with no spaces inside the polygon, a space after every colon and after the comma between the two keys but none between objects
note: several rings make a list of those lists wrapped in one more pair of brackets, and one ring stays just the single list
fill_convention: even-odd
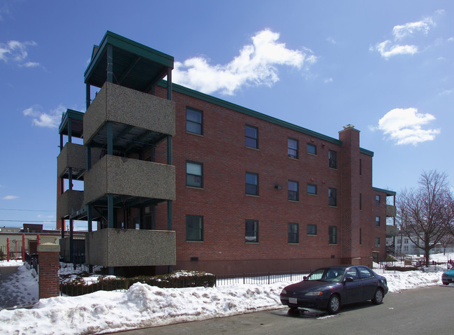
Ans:
[{"label": "topmost concrete balcony panel of the nearer stack, under the green canopy", "polygon": [[84,115],[84,144],[105,122],[175,135],[175,103],[152,94],[105,83]]}]

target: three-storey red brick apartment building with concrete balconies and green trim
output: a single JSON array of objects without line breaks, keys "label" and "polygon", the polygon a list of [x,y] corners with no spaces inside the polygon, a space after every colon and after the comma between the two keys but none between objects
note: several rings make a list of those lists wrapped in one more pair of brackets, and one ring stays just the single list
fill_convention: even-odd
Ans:
[{"label": "three-storey red brick apartment building with concrete balconies and green trim", "polygon": [[57,229],[87,220],[88,264],[228,274],[385,257],[395,192],[372,187],[360,131],[318,134],[175,85],[172,69],[108,31],[85,72],[87,112],[62,118]]}]

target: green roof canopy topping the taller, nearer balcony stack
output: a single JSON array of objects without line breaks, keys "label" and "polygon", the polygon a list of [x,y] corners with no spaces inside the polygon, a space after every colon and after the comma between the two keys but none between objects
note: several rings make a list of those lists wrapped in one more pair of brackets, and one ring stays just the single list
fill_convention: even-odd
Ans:
[{"label": "green roof canopy topping the taller, nearer balcony stack", "polygon": [[[85,71],[85,83],[102,87],[106,81],[149,92],[173,69],[174,59],[145,45],[107,31],[95,45]],[[111,80],[109,76],[112,76]]]}]

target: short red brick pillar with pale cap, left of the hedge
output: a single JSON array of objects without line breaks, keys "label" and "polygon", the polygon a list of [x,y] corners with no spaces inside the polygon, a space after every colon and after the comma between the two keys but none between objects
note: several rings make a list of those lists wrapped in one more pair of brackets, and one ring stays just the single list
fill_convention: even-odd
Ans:
[{"label": "short red brick pillar with pale cap, left of the hedge", "polygon": [[59,254],[60,245],[58,244],[38,245],[39,299],[60,295]]}]

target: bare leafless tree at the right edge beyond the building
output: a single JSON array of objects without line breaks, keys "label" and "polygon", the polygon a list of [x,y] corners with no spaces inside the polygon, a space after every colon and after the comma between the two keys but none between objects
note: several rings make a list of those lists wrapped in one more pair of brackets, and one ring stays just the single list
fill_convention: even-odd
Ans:
[{"label": "bare leafless tree at the right edge beyond the building", "polygon": [[397,197],[397,220],[409,240],[424,250],[429,264],[430,250],[453,229],[453,193],[446,173],[423,172],[418,184]]}]

